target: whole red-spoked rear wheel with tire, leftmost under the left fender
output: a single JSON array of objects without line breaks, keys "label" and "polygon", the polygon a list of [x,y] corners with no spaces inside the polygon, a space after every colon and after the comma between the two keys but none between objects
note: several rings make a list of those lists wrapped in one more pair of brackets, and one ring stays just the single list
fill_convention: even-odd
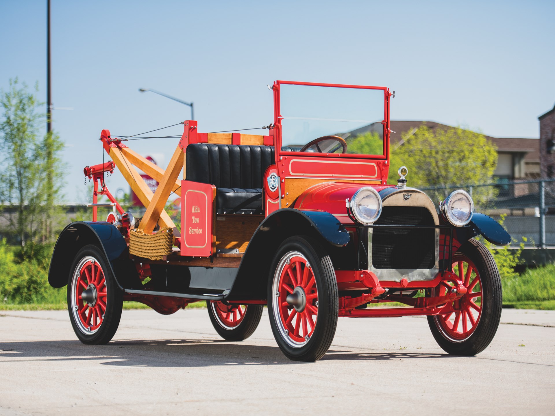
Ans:
[{"label": "whole red-spoked rear wheel with tire, leftmost under the left fender", "polygon": [[69,317],[80,341],[109,342],[118,328],[122,305],[122,292],[104,254],[97,246],[83,247],[75,256],[68,282]]}]

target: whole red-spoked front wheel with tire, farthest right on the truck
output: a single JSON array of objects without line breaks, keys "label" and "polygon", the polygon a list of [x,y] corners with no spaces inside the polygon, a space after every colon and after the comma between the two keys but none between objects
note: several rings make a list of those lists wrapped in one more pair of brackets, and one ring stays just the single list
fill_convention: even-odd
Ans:
[{"label": "whole red-spoked front wheel with tire, farthest right on the truck", "polygon": [[[461,298],[428,317],[433,336],[451,354],[474,355],[490,344],[501,318],[501,279],[490,252],[470,240],[453,255],[453,272],[466,287]],[[454,283],[443,281],[432,296],[444,296]]]}]

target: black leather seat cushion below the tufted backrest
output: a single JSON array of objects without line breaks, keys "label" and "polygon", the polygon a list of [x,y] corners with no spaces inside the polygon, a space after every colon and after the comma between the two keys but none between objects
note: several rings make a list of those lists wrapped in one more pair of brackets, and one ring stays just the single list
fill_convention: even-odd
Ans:
[{"label": "black leather seat cushion below the tufted backrest", "polygon": [[216,214],[263,214],[261,188],[216,188]]}]

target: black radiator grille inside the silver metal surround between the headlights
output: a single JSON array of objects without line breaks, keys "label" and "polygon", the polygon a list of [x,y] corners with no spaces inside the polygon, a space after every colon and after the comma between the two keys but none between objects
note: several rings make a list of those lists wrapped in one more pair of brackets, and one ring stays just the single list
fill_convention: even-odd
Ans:
[{"label": "black radiator grille inside the silver metal surround between the headlights", "polygon": [[[376,225],[433,225],[425,207],[385,206]],[[435,264],[435,230],[375,228],[372,265],[375,268],[430,269]]]}]

